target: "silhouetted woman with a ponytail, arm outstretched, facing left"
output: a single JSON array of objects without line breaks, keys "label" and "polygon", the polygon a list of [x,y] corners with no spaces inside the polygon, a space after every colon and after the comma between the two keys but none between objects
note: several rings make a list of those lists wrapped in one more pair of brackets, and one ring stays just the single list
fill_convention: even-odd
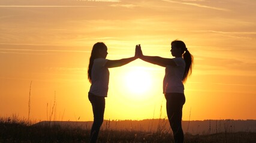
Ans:
[{"label": "silhouetted woman with a ponytail, arm outstretched, facing left", "polygon": [[183,143],[182,108],[185,104],[184,85],[187,77],[191,75],[193,56],[189,53],[182,41],[171,42],[171,55],[175,58],[162,58],[142,54],[140,45],[136,51],[143,61],[165,67],[163,92],[166,99],[168,120],[173,130],[174,142]]}]

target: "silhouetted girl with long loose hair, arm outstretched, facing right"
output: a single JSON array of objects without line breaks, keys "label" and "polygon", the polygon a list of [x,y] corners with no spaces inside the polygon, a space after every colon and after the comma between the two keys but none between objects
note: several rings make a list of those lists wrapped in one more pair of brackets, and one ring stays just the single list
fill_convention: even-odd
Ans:
[{"label": "silhouetted girl with long loose hair, arm outstretched, facing right", "polygon": [[92,47],[88,66],[88,80],[91,83],[88,98],[92,104],[92,111],[94,113],[91,143],[97,142],[98,133],[104,120],[105,97],[107,97],[107,91],[109,89],[109,68],[124,66],[137,59],[134,56],[121,60],[107,60],[107,54],[107,46],[103,42],[95,43]]}]

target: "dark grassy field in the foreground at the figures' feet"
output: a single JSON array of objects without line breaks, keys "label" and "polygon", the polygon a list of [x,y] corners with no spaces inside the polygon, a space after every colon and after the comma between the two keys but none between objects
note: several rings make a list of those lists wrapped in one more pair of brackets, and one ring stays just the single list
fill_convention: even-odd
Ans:
[{"label": "dark grassy field in the foreground at the figures' feet", "polygon": [[[89,142],[89,129],[61,128],[58,125],[34,126],[25,120],[0,120],[0,142]],[[173,142],[170,132],[136,132],[131,130],[103,129],[98,142]],[[185,135],[186,143],[254,143],[256,133],[216,133]]]}]

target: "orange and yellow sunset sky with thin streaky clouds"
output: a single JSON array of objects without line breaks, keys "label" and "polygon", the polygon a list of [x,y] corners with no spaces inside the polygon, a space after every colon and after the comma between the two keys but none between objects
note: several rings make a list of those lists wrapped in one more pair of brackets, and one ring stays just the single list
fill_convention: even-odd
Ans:
[{"label": "orange and yellow sunset sky with thin streaky clouds", "polygon": [[[1,0],[0,117],[93,120],[88,100],[94,43],[107,58],[194,55],[183,120],[256,119],[255,0]],[[166,117],[164,68],[135,60],[110,70],[106,120]],[[54,104],[55,102],[55,104]],[[53,108],[54,106],[54,109]],[[162,108],[161,108],[162,107]],[[52,112],[53,110],[53,112]]]}]

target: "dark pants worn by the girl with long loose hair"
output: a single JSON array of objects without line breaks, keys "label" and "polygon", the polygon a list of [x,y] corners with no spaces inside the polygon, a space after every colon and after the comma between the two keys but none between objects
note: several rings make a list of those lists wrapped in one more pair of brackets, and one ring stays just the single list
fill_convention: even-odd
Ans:
[{"label": "dark pants worn by the girl with long loose hair", "polygon": [[92,104],[92,111],[94,112],[94,123],[91,129],[91,143],[97,142],[98,134],[104,119],[105,111],[105,97],[98,97],[97,95],[88,94],[89,101]]}]

